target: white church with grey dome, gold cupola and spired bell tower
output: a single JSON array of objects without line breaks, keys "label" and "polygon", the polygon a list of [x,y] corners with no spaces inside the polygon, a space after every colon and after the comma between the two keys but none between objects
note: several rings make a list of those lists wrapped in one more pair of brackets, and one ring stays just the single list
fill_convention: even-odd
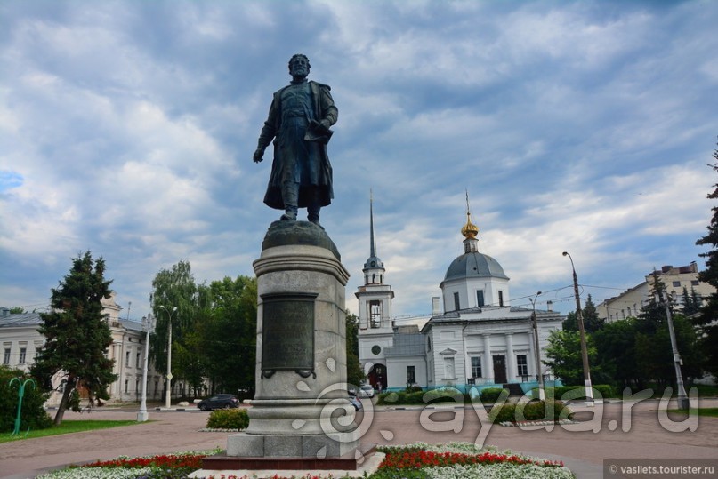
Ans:
[{"label": "white church with grey dome, gold cupola and spired bell tower", "polygon": [[[448,266],[440,283],[440,298],[424,326],[395,326],[391,315],[394,291],[386,283],[385,268],[376,255],[374,212],[370,209],[370,253],[364,265],[359,300],[359,362],[367,382],[377,390],[508,387],[512,394],[546,385],[553,372],[536,361],[536,327],[540,357],[551,331],[560,330],[565,316],[551,310],[512,307],[509,277],[496,259],[479,251],[467,210],[461,229],[464,252]],[[558,383],[558,381],[556,381]]]}]

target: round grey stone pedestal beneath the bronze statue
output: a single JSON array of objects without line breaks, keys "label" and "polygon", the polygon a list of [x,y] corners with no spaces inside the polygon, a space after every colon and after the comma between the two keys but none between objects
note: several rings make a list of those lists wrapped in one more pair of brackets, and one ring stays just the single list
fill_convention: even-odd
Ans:
[{"label": "round grey stone pedestal beneath the bronze statue", "polygon": [[[256,392],[246,432],[230,435],[228,459],[359,456],[347,396],[344,286],[349,273],[325,231],[276,221],[254,261]],[[291,467],[286,467],[291,468]]]}]

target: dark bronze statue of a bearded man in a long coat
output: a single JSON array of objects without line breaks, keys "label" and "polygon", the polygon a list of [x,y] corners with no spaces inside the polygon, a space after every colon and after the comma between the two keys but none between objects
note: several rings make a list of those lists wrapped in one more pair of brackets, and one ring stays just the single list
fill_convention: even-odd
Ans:
[{"label": "dark bronze statue of a bearded man in a long coat", "polygon": [[332,203],[332,165],[327,156],[329,127],[339,111],[326,84],[307,81],[309,59],[296,54],[289,60],[288,84],[274,93],[270,114],[259,135],[254,163],[274,140],[274,160],[264,203],[284,210],[281,220],[296,220],[307,208],[308,220],[319,225],[319,210]]}]

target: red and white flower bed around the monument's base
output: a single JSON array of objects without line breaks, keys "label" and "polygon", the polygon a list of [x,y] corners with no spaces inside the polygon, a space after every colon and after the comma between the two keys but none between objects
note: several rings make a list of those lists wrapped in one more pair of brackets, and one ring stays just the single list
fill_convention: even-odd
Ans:
[{"label": "red and white flower bed around the monument's base", "polygon": [[[530,458],[512,451],[477,448],[472,443],[380,446],[385,457],[367,479],[571,479],[562,462]],[[118,458],[40,475],[42,479],[185,479],[201,468],[202,459],[217,451],[186,452],[147,458]],[[272,479],[319,479],[332,475],[302,475]],[[252,479],[251,476],[208,475],[206,479]]]}]

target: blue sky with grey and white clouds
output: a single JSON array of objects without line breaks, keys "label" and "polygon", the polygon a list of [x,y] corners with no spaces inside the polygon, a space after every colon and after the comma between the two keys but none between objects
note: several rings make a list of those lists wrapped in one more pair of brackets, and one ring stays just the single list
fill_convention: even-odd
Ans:
[{"label": "blue sky with grey and white clouds", "polygon": [[0,306],[43,310],[83,251],[134,319],[180,260],[198,282],[254,275],[279,212],[252,155],[296,52],[339,108],[322,224],[351,311],[370,189],[397,316],[431,311],[467,190],[517,306],[571,310],[561,251],[596,303],[703,267],[716,25],[712,1],[5,0]]}]

